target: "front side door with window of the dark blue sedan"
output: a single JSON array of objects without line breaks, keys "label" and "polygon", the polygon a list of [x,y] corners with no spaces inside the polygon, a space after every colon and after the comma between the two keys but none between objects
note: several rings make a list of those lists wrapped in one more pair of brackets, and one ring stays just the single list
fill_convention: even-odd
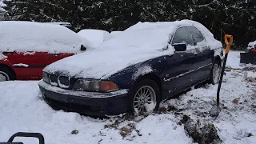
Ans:
[{"label": "front side door with window of the dark blue sedan", "polygon": [[[171,45],[185,43],[187,46],[193,45],[193,39],[188,27],[180,27],[176,30],[172,39]],[[164,78],[165,86],[168,86],[170,94],[177,94],[184,90],[191,83],[191,70],[194,70],[194,65],[197,59],[193,50],[175,51],[170,57],[170,63],[166,74],[168,78]],[[165,87],[164,89],[168,89]]]}]

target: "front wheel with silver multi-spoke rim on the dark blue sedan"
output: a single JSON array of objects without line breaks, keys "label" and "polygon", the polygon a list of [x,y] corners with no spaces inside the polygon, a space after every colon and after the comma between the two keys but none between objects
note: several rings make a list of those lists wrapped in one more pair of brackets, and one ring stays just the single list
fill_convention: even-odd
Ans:
[{"label": "front wheel with silver multi-spoke rim on the dark blue sedan", "polygon": [[[143,98],[142,93],[146,95],[150,94],[150,96]],[[133,90],[131,90],[130,92],[130,105],[128,107],[128,110],[129,113],[133,115],[150,113],[154,110],[158,110],[159,102],[160,90],[158,84],[151,79],[142,79],[134,86]],[[141,105],[141,108],[138,108],[139,105]]]}]

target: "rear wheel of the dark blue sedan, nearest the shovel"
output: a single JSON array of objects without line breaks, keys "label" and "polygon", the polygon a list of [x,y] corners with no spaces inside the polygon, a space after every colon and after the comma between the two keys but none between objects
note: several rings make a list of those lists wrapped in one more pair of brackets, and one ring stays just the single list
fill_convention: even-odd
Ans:
[{"label": "rear wheel of the dark blue sedan, nearest the shovel", "polygon": [[[218,68],[218,71],[216,71],[217,68]],[[215,61],[214,65],[210,71],[210,82],[209,83],[211,83],[213,85],[218,84],[220,74],[221,74],[221,62]],[[218,78],[217,78],[217,76],[218,76]]]}]

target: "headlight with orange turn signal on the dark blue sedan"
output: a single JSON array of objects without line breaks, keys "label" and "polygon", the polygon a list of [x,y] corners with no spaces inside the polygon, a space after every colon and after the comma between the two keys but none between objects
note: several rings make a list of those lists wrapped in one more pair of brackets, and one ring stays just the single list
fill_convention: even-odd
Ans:
[{"label": "headlight with orange turn signal on the dark blue sedan", "polygon": [[118,90],[114,82],[78,79],[74,82],[73,90],[108,92]]}]

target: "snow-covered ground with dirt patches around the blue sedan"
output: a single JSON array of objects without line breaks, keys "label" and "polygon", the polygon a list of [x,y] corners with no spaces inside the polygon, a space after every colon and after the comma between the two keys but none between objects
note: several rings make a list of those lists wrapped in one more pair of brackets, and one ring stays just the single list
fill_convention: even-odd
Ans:
[{"label": "snow-covered ground with dirt patches around the blue sedan", "polygon": [[[0,142],[18,131],[39,132],[46,144],[63,143],[182,143],[193,140],[179,125],[183,114],[201,122],[213,122],[223,143],[256,143],[256,82],[244,78],[245,66],[239,65],[239,53],[230,52],[230,70],[224,75],[221,90],[222,111],[218,118],[209,116],[217,86],[202,85],[162,102],[172,106],[165,114],[146,118],[90,118],[76,113],[56,111],[42,100],[38,82],[0,82]],[[256,78],[256,70],[248,77]],[[234,101],[235,99],[235,101]],[[71,134],[78,130],[78,134]],[[124,138],[123,138],[124,137]],[[24,143],[35,139],[15,138]]]}]

